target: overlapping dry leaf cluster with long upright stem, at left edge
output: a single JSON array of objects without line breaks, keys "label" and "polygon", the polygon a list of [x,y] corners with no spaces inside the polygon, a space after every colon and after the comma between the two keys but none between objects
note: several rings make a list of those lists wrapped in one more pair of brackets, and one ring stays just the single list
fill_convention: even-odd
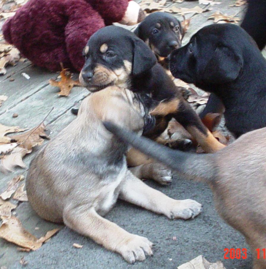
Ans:
[{"label": "overlapping dry leaf cluster with long upright stem, at left edge", "polygon": [[44,139],[49,137],[45,133],[45,125],[42,123],[37,128],[21,135],[12,137],[6,136],[8,133],[23,132],[18,126],[5,126],[0,124],[0,171],[7,173],[13,171],[16,166],[25,168],[22,158],[31,153],[32,148],[42,145]]}]

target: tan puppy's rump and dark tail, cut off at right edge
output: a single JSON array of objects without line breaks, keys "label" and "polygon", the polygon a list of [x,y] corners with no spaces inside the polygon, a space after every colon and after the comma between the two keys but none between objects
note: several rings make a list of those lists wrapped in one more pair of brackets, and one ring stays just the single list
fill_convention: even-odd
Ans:
[{"label": "tan puppy's rump and dark tail, cut off at right edge", "polygon": [[248,132],[217,153],[193,154],[137,137],[111,122],[104,124],[121,140],[188,179],[208,183],[221,217],[246,237],[253,269],[266,268],[256,251],[266,247],[266,128]]}]

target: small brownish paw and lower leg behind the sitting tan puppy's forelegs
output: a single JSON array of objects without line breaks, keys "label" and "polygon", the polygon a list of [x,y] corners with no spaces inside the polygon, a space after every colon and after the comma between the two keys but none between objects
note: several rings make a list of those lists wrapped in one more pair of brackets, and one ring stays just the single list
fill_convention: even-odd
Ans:
[{"label": "small brownish paw and lower leg behind the sitting tan puppy's forelegs", "polygon": [[135,177],[140,179],[152,179],[161,185],[168,185],[172,182],[172,171],[164,164],[141,164],[136,167],[130,167],[129,171],[132,172]]}]

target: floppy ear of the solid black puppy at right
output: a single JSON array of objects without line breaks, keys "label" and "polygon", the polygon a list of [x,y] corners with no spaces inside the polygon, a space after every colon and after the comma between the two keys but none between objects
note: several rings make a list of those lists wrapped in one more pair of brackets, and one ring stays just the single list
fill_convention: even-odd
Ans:
[{"label": "floppy ear of the solid black puppy at right", "polygon": [[228,47],[217,47],[203,72],[203,81],[212,84],[234,81],[243,66],[243,59]]}]

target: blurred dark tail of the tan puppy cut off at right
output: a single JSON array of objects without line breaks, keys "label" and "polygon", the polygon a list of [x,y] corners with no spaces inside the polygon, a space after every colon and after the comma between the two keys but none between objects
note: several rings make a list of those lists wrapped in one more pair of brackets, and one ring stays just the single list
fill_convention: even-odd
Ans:
[{"label": "blurred dark tail of the tan puppy cut off at right", "polygon": [[121,129],[109,121],[103,124],[108,131],[124,142],[129,143],[134,148],[157,159],[173,170],[188,176],[191,180],[208,182],[215,177],[215,154],[195,154],[172,150],[148,138],[139,137],[134,132]]}]

